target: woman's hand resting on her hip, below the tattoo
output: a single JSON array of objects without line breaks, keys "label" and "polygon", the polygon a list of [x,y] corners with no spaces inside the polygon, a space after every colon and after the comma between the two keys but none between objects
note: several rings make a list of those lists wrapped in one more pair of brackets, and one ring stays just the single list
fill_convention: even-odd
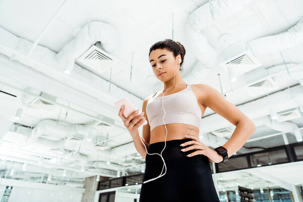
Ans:
[{"label": "woman's hand resting on her hip, below the tattoo", "polygon": [[183,151],[197,149],[197,151],[194,151],[193,153],[191,153],[189,155],[189,157],[193,157],[195,155],[205,155],[205,156],[208,157],[210,162],[220,163],[220,162],[223,161],[223,157],[221,155],[219,155],[217,153],[217,151],[211,149],[210,147],[208,147],[207,145],[202,143],[199,140],[199,138],[197,138],[196,136],[185,135],[184,137],[191,138],[193,140],[188,141],[188,142],[184,142],[182,146],[187,146],[187,145],[191,145],[191,144],[193,144],[193,145],[186,147]]}]

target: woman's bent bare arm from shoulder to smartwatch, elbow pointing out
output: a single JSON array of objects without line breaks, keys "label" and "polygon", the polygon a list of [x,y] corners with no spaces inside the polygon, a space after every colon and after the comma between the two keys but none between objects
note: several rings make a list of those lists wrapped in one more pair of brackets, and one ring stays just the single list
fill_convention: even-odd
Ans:
[{"label": "woman's bent bare arm from shoulder to smartwatch, elbow pointing out", "polygon": [[236,106],[228,102],[218,90],[206,84],[198,85],[204,92],[203,105],[211,108],[214,112],[236,126],[230,139],[222,145],[227,149],[228,157],[231,157],[254,134],[256,126]]}]

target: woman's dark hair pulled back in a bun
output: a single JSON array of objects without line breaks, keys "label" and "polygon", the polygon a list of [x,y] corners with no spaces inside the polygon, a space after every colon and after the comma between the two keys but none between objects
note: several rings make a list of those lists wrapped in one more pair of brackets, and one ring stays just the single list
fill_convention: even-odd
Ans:
[{"label": "woman's dark hair pulled back in a bun", "polygon": [[184,56],[185,56],[186,51],[185,51],[184,46],[181,43],[179,43],[178,41],[169,39],[169,38],[164,39],[162,41],[158,41],[149,48],[148,56],[150,55],[150,52],[152,52],[158,48],[167,49],[168,51],[173,53],[174,57],[177,57],[180,54],[180,56],[181,56],[180,71],[181,72],[183,71],[183,68],[181,68],[181,66],[184,62]]}]

